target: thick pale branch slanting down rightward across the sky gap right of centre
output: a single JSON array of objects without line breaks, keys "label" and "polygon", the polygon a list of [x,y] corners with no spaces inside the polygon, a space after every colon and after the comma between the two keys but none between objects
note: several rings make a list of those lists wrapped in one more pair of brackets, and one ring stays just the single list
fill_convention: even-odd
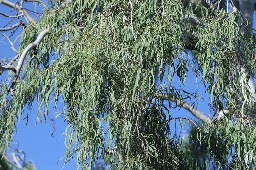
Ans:
[{"label": "thick pale branch slanting down rightward across the sky gap right of centre", "polygon": [[170,100],[172,102],[175,102],[177,104],[177,106],[183,107],[184,109],[188,110],[190,113],[192,113],[192,115],[194,115],[198,119],[202,120],[203,122],[207,123],[207,122],[211,121],[207,116],[205,116],[204,113],[197,110],[190,103],[179,100],[179,99],[176,99],[176,98],[174,98],[173,96],[171,96],[170,94],[167,94],[167,93],[160,93],[160,94],[162,95],[164,100]]}]

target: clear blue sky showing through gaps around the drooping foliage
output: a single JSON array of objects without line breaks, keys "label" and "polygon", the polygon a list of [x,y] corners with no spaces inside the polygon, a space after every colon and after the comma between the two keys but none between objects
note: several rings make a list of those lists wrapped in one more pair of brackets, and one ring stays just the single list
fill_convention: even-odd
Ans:
[{"label": "clear blue sky showing through gaps around the drooping foliage", "polygon": [[[15,0],[10,0],[15,2]],[[25,2],[26,3],[26,2]],[[26,3],[32,4],[32,3]],[[25,4],[25,5],[26,5]],[[25,6],[26,8],[33,9],[35,8],[33,5]],[[4,13],[11,10],[4,5],[0,4],[0,12]],[[39,10],[40,12],[40,10]],[[4,26],[8,20],[5,17],[0,17],[0,27]],[[254,23],[254,27],[256,23]],[[21,32],[21,29],[17,31],[17,34]],[[3,32],[4,33],[4,32]],[[15,37],[15,36],[13,36]],[[14,40],[12,38],[11,40]],[[15,44],[18,47],[19,43]],[[0,36],[0,60],[6,58],[13,58],[15,53],[10,49],[9,43]],[[192,56],[192,55],[191,55]],[[174,79],[174,82],[177,79]],[[177,81],[178,82],[178,81]],[[198,82],[199,83],[199,82]],[[179,84],[177,84],[179,86]],[[189,92],[198,93],[199,96],[201,94],[201,99],[198,102],[198,109],[204,112],[205,114],[209,114],[209,95],[204,94],[203,85],[195,85],[195,76],[189,75],[186,81],[186,90]],[[62,108],[59,108],[60,110]],[[17,133],[14,135],[13,146],[17,146],[15,144],[18,142],[18,149],[22,149],[26,153],[26,158],[32,160],[37,170],[60,170],[63,166],[63,161],[60,161],[57,165],[58,160],[64,155],[65,145],[64,139],[65,136],[62,135],[65,133],[65,128],[67,126],[66,123],[62,120],[62,118],[55,118],[55,113],[57,110],[50,110],[49,117],[47,118],[46,123],[37,122],[37,103],[34,102],[34,106],[32,110],[26,110],[29,113],[29,122],[27,125],[26,120],[20,119],[20,122],[17,123]],[[26,116],[26,114],[24,114]],[[194,117],[184,109],[173,109],[171,111],[172,117],[186,117],[194,119]],[[55,131],[53,130],[53,126],[51,124],[50,119],[54,119],[55,123]],[[178,123],[178,122],[177,122]],[[174,122],[171,122],[171,132],[174,134]],[[181,131],[181,128],[177,128],[177,133]],[[53,137],[51,136],[53,134]],[[68,164],[64,166],[63,170],[73,170],[76,168],[76,162],[70,161]]]}]

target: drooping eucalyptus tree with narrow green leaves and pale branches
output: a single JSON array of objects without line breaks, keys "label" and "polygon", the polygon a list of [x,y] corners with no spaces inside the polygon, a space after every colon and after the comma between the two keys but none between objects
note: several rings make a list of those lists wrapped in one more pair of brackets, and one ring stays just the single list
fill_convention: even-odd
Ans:
[{"label": "drooping eucalyptus tree with narrow green leaves and pale branches", "polygon": [[[5,36],[17,55],[0,65],[0,153],[33,101],[39,121],[61,102],[66,161],[76,155],[82,169],[102,159],[117,169],[255,167],[254,0],[0,2],[17,20],[0,31],[23,27],[18,49]],[[31,2],[45,8],[39,19],[23,8]],[[213,116],[176,88],[188,72]],[[188,119],[172,117],[172,106],[199,119],[188,140],[170,134],[170,121]]]}]

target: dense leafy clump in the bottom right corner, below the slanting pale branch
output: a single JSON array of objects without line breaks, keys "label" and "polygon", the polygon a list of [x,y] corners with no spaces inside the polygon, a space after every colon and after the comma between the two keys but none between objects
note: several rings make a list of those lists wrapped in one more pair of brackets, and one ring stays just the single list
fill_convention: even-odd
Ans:
[{"label": "dense leafy clump in the bottom right corner, below the slanting pale branch", "polygon": [[184,154],[189,156],[192,169],[255,169],[255,128],[249,119],[232,120],[226,118],[216,125],[192,127],[189,141],[184,143]]}]

